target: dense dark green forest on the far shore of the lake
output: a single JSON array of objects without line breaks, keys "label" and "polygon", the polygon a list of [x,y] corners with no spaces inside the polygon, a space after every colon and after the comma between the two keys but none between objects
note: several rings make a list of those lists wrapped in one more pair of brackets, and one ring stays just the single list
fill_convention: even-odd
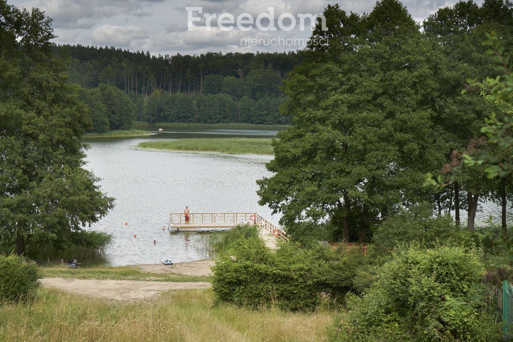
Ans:
[{"label": "dense dark green forest on the far shore of the lake", "polygon": [[129,128],[132,120],[287,124],[280,86],[302,61],[299,52],[155,56],[114,47],[54,49],[70,54],[70,82],[82,88],[98,133]]}]

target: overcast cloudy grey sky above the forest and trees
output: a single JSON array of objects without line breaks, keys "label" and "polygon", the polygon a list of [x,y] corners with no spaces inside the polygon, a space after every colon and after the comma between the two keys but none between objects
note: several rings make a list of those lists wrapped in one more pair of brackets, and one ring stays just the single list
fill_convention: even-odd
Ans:
[{"label": "overcast cloudy grey sky above the forest and trees", "polygon": [[[326,0],[8,0],[20,8],[38,7],[53,18],[57,44],[115,46],[131,51],[149,51],[157,54],[200,54],[212,52],[267,52],[290,51],[304,48],[311,34],[308,19],[301,30],[300,14],[322,13]],[[340,0],[340,7],[347,12],[370,12],[376,0]],[[450,6],[455,1],[404,0],[403,4],[413,18],[422,22],[438,8]],[[187,11],[187,7],[201,8]],[[273,19],[268,8],[274,11]],[[189,14],[190,13],[190,14]],[[225,24],[218,25],[223,13]],[[253,17],[241,16],[247,13]],[[204,14],[216,14],[210,30]],[[283,14],[281,21],[280,15]],[[276,29],[261,30],[256,18],[262,15],[261,26]],[[190,16],[190,17],[189,17]],[[236,25],[240,17],[242,25]],[[189,24],[189,19],[191,25]],[[196,19],[197,18],[197,19]],[[293,18],[293,19],[292,19]],[[292,25],[294,20],[297,25]],[[280,27],[278,24],[281,24]],[[231,30],[230,27],[232,28]],[[329,27],[328,27],[329,30]],[[271,40],[271,39],[274,40]],[[253,40],[251,40],[253,39]],[[295,39],[295,40],[294,40]]]}]

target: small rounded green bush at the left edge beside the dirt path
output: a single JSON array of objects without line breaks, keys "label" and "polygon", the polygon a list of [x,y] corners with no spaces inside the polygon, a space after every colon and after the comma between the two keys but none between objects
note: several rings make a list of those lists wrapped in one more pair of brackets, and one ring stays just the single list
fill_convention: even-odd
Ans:
[{"label": "small rounded green bush at the left edge beside the dirt path", "polygon": [[28,259],[0,255],[0,302],[29,299],[40,285],[37,266]]}]

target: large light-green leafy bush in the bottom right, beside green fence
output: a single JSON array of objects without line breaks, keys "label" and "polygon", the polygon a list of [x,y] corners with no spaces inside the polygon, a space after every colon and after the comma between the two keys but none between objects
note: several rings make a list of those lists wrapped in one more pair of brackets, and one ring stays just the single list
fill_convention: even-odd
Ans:
[{"label": "large light-green leafy bush in the bottom right, beside green fence", "polygon": [[393,253],[363,297],[348,295],[348,314],[331,340],[492,340],[500,329],[492,310],[465,292],[484,272],[475,253],[460,247]]}]

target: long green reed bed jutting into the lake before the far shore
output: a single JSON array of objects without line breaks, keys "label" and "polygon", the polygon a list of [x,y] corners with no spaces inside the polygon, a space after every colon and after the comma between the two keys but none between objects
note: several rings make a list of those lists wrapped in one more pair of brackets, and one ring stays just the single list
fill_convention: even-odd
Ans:
[{"label": "long green reed bed jutting into the lake before the far shore", "polygon": [[137,145],[164,151],[208,151],[230,154],[274,154],[270,138],[191,138],[157,140]]}]

